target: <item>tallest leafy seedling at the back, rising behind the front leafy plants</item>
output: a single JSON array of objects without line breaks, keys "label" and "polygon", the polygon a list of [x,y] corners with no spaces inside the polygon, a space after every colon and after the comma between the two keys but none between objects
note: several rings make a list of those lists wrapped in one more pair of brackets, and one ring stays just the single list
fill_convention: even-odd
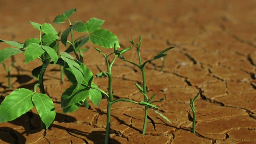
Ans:
[{"label": "tallest leafy seedling at the back, rising behind the front leafy plants", "polygon": [[[69,17],[76,12],[76,8],[65,11],[63,14],[56,16],[54,22],[56,24],[65,23],[67,21],[69,27],[63,31],[61,35],[61,42],[64,46],[67,47],[67,43],[70,46],[65,50],[66,53],[74,52],[76,59],[83,63],[83,51],[88,50],[86,48],[81,48],[89,40],[101,47],[104,48],[113,48],[114,43],[117,40],[115,34],[111,33],[108,30],[101,29],[101,25],[104,23],[104,20],[91,18],[86,23],[83,21],[71,22]],[[74,39],[73,32],[85,33],[82,36]],[[68,35],[71,35],[71,40],[68,40]],[[117,43],[119,46],[119,44]],[[86,98],[83,101],[85,107],[89,107],[88,99]]]}]

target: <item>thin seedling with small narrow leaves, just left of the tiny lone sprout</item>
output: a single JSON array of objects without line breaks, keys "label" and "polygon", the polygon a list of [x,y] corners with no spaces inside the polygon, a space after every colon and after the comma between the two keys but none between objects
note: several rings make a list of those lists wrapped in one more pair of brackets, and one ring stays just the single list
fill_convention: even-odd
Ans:
[{"label": "thin seedling with small narrow leaves, just left of the tiny lone sprout", "polygon": [[[146,73],[145,73],[145,65],[147,64],[147,62],[150,62],[150,61],[153,61],[155,59],[159,59],[159,58],[162,58],[164,56],[166,56],[167,54],[165,52],[167,52],[168,50],[174,48],[174,47],[170,47],[170,48],[167,48],[163,51],[161,51],[160,53],[158,53],[153,59],[149,59],[147,61],[145,61],[144,63],[142,63],[141,61],[141,55],[140,55],[140,46],[141,46],[141,43],[142,43],[142,37],[140,36],[140,40],[139,42],[140,43],[134,43],[134,40],[131,38],[131,40],[129,40],[129,42],[135,47],[137,48],[137,53],[138,53],[138,59],[139,59],[139,64],[135,64],[134,62],[131,62],[127,59],[124,58],[124,56],[119,56],[119,58],[121,58],[123,61],[127,61],[131,64],[133,64],[135,67],[138,67],[142,73],[142,80],[143,80],[143,88],[140,87],[140,85],[138,85],[137,83],[135,83],[135,85],[137,86],[137,88],[140,90],[140,92],[143,94],[144,96],[144,102],[148,102],[150,104],[152,104],[153,102],[159,102],[159,101],[163,101],[164,99],[161,98],[160,100],[158,101],[151,101],[156,95],[152,95],[150,99],[148,99],[148,95],[147,95],[147,85],[146,85]],[[147,106],[145,106],[145,113],[144,113],[144,124],[143,124],[143,129],[142,129],[142,134],[144,135],[145,132],[146,132],[146,126],[147,126]],[[156,112],[156,111],[155,111]],[[159,113],[158,113],[159,114]],[[164,117],[168,122],[170,122],[166,117]]]}]

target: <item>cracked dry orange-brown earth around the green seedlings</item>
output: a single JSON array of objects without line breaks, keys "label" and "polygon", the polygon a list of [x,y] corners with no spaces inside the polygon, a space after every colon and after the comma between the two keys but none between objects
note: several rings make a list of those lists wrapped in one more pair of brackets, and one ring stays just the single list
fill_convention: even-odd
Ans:
[{"label": "cracked dry orange-brown earth around the green seedlings", "polygon": [[[146,135],[141,135],[143,107],[127,102],[112,106],[111,144],[254,144],[256,143],[256,1],[255,0],[0,0],[0,39],[23,43],[39,37],[29,21],[52,23],[55,16],[77,7],[71,21],[104,19],[102,28],[118,36],[121,48],[128,39],[143,36],[143,61],[170,46],[165,58],[146,67],[148,94],[165,98],[156,103],[172,122],[149,111]],[[63,31],[67,24],[54,27]],[[84,52],[85,64],[94,74],[106,71],[101,55],[91,43]],[[0,48],[7,47],[0,43]],[[112,52],[112,49],[104,49]],[[64,50],[64,47],[61,47]],[[138,62],[135,48],[124,55]],[[7,89],[7,74],[0,66],[1,101],[16,88],[32,89],[37,83],[31,70],[40,61],[24,64],[24,54],[6,60],[16,61],[11,71],[12,89]],[[51,65],[45,73],[45,89],[55,102],[57,115],[48,130],[40,129],[36,109],[12,122],[0,123],[0,143],[6,144],[102,144],[106,128],[106,99],[98,107],[80,107],[63,114],[60,96],[70,82],[60,82],[60,71]],[[134,83],[141,73],[132,65],[117,60],[113,66],[115,98],[136,101],[143,95]],[[95,78],[107,91],[107,79]],[[191,133],[192,111],[189,99],[200,92],[195,107],[196,134]]]}]

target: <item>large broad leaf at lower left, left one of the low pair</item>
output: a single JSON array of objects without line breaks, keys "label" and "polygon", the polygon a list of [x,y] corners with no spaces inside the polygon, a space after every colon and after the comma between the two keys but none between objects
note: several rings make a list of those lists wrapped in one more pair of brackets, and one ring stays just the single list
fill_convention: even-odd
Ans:
[{"label": "large broad leaf at lower left, left one of the low pair", "polygon": [[0,105],[0,123],[14,120],[33,108],[33,94],[28,89],[16,89],[7,95]]}]

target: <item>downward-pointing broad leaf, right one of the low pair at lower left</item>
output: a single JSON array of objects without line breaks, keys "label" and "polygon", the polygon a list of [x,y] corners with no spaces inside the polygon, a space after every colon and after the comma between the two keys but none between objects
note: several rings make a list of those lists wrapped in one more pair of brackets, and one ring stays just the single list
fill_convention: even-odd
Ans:
[{"label": "downward-pointing broad leaf, right one of the low pair at lower left", "polygon": [[52,99],[46,94],[35,93],[32,96],[32,101],[36,106],[36,110],[41,117],[41,120],[45,123],[46,129],[48,129],[56,115]]}]

